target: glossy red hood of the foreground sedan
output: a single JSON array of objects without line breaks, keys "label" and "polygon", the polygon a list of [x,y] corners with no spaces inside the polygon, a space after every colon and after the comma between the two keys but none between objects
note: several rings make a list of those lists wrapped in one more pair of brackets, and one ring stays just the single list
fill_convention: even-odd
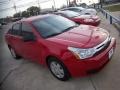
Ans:
[{"label": "glossy red hood of the foreground sedan", "polygon": [[67,46],[91,48],[102,43],[109,33],[98,27],[80,25],[47,40]]}]

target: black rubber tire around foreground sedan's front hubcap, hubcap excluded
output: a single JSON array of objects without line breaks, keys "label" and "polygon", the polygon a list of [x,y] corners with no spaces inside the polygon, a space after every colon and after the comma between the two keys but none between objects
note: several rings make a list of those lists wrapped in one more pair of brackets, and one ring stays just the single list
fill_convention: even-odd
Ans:
[{"label": "black rubber tire around foreground sedan's front hubcap, hubcap excluded", "polygon": [[[57,75],[53,72],[53,70],[52,70],[52,68],[51,68],[51,64],[52,64],[52,63],[56,63],[57,65],[60,65],[60,69],[62,69],[63,72],[64,72],[63,77],[59,77],[59,76],[57,76]],[[56,59],[56,58],[49,58],[47,64],[48,64],[48,68],[49,68],[49,70],[51,71],[51,73],[53,74],[53,76],[56,77],[58,80],[67,81],[67,80],[70,79],[71,76],[70,76],[69,71],[67,70],[67,68],[65,67],[65,65],[64,65],[60,60],[58,60],[58,59]],[[59,70],[58,70],[58,71],[59,71]]]}]

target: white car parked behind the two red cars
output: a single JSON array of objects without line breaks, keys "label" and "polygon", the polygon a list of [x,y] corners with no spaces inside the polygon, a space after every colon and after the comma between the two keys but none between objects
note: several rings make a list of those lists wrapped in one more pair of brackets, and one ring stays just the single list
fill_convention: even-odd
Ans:
[{"label": "white car parked behind the two red cars", "polygon": [[69,7],[69,8],[62,9],[62,11],[65,11],[65,10],[71,10],[81,15],[97,15],[97,11],[92,8]]}]

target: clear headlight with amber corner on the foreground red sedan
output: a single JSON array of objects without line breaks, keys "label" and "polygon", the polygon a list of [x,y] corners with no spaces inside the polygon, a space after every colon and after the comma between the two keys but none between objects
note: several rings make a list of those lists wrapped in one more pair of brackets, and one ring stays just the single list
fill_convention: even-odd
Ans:
[{"label": "clear headlight with amber corner on the foreground red sedan", "polygon": [[80,49],[74,47],[68,47],[68,50],[71,51],[77,59],[86,59],[92,57],[95,53],[94,48],[89,49]]}]

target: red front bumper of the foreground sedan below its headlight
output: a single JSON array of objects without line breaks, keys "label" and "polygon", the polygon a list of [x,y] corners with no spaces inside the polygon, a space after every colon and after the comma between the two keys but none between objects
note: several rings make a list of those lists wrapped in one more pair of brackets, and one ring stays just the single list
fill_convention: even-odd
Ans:
[{"label": "red front bumper of the foreground sedan below its headlight", "polygon": [[97,56],[86,60],[76,60],[75,58],[69,58],[70,60],[67,60],[67,62],[64,62],[64,64],[67,66],[71,76],[73,77],[87,75],[91,72],[98,71],[107,64],[109,61],[108,53],[111,48],[115,49],[115,46],[116,40],[115,38],[112,38],[109,47]]}]

